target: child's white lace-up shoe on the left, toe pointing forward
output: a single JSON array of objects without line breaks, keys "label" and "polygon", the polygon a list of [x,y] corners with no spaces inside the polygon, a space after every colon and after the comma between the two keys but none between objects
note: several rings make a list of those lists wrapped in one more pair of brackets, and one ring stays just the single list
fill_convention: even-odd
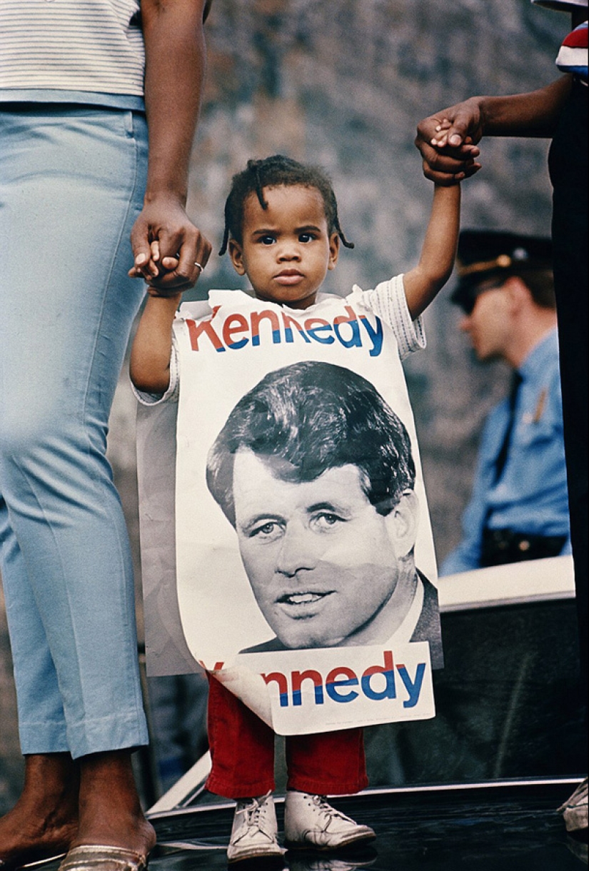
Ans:
[{"label": "child's white lace-up shoe on the left, toe pointing forward", "polygon": [[286,853],[278,843],[278,823],[272,793],[237,802],[227,861],[281,858]]}]

